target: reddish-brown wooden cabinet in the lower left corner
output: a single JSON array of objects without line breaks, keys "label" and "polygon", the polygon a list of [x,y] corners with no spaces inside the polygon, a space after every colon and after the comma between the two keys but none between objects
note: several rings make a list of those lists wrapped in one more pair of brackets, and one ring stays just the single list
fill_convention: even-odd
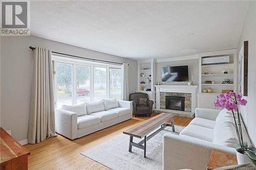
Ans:
[{"label": "reddish-brown wooden cabinet in the lower left corner", "polygon": [[19,142],[13,139],[3,128],[1,133],[1,170],[28,169],[28,155],[30,152]]}]

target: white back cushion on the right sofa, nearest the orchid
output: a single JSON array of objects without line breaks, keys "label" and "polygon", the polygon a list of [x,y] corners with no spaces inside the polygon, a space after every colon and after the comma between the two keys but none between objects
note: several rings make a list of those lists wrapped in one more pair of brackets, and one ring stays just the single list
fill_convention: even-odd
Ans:
[{"label": "white back cushion on the right sofa, nearest the orchid", "polygon": [[231,122],[223,122],[215,125],[213,143],[226,147],[236,148],[239,143],[236,128]]}]

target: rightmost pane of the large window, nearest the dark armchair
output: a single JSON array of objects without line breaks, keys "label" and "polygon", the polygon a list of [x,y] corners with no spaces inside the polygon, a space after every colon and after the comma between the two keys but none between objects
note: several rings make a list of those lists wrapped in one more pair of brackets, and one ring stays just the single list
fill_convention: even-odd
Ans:
[{"label": "rightmost pane of the large window, nearest the dark armchair", "polygon": [[121,69],[110,68],[110,98],[121,99]]}]

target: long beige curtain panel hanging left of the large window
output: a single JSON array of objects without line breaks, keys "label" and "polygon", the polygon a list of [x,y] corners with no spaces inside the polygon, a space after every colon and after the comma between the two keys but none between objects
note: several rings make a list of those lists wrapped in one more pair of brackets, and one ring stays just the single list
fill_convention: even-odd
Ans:
[{"label": "long beige curtain panel hanging left of the large window", "polygon": [[51,51],[36,47],[33,60],[28,142],[39,143],[56,136]]}]

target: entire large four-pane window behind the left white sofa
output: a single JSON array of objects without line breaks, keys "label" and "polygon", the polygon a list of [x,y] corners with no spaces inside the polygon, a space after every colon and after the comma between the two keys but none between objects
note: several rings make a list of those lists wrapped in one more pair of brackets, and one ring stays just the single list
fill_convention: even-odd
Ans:
[{"label": "entire large four-pane window behind the left white sofa", "polygon": [[116,98],[121,100],[121,66],[53,57],[55,107]]}]

